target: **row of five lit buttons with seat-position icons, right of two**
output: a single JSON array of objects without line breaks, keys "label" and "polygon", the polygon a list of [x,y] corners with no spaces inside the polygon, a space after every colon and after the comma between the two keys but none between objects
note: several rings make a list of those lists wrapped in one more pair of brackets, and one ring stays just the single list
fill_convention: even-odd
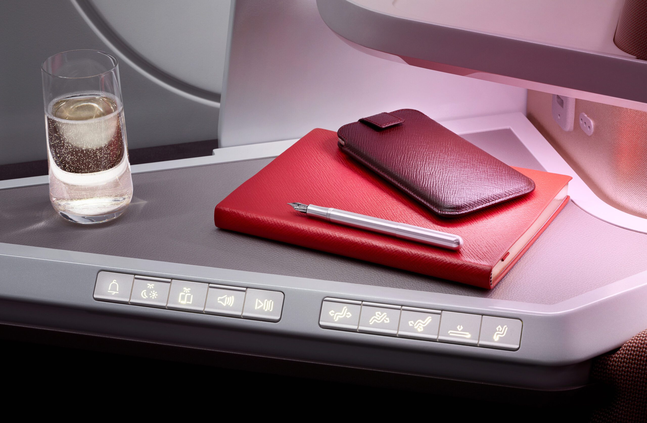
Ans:
[{"label": "row of five lit buttons with seat-position icons, right of two", "polygon": [[319,325],[325,329],[510,351],[519,349],[523,326],[518,319],[340,298],[323,300]]}]

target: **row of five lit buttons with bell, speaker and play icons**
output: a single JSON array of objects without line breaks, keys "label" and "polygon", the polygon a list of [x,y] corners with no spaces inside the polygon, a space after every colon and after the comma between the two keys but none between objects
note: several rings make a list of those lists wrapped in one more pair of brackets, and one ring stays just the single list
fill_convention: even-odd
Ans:
[{"label": "row of five lit buttons with bell, speaker and play icons", "polygon": [[281,320],[280,291],[99,272],[94,299],[254,320]]}]

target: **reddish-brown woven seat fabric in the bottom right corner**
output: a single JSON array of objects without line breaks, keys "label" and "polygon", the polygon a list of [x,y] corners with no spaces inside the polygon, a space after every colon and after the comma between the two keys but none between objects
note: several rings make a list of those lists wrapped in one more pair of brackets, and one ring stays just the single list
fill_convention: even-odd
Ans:
[{"label": "reddish-brown woven seat fabric in the bottom right corner", "polygon": [[611,404],[598,409],[593,422],[647,422],[647,330],[593,364],[593,380],[613,387]]}]

